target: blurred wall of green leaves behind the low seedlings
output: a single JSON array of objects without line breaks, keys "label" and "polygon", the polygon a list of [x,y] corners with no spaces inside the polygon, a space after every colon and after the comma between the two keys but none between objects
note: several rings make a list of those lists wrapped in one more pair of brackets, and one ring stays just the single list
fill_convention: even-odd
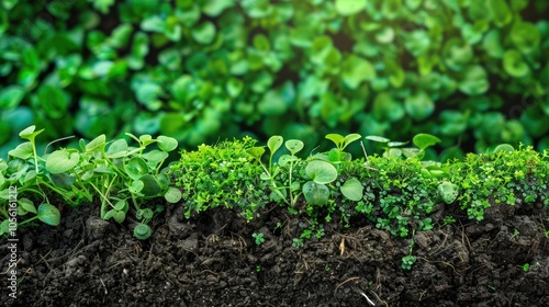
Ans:
[{"label": "blurred wall of green leaves behind the low seedlings", "polygon": [[31,124],[47,140],[429,133],[442,148],[549,148],[546,0],[0,7],[1,156]]}]

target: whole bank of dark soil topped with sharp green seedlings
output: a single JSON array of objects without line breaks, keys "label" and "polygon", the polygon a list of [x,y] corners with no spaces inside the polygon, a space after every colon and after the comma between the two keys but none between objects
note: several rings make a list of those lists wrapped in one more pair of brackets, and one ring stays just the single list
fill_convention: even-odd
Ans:
[{"label": "whole bank of dark soil topped with sharp green seedlings", "polygon": [[[99,136],[40,155],[41,133],[23,129],[29,141],[0,161],[2,268],[10,218],[35,225],[15,231],[10,305],[549,303],[547,151],[501,145],[438,162],[432,135],[328,134],[321,152],[245,137],[168,166],[169,137]],[[348,152],[366,141],[379,154]]]}]

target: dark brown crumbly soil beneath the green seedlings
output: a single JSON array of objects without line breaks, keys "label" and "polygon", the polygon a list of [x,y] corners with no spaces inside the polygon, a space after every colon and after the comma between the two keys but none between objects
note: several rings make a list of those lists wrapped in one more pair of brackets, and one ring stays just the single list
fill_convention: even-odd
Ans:
[{"label": "dark brown crumbly soil beneath the green seedlings", "polygon": [[[435,219],[457,212],[439,206]],[[292,247],[305,219],[280,207],[247,224],[227,209],[184,219],[170,205],[139,241],[97,206],[65,208],[58,227],[18,230],[18,297],[0,239],[2,306],[549,306],[548,212],[494,205],[411,239],[365,220],[325,225]],[[131,215],[128,215],[131,216]],[[280,227],[277,227],[277,224]],[[251,235],[262,232],[256,245]],[[548,232],[549,234],[549,232]],[[524,264],[529,264],[528,270]]]}]

